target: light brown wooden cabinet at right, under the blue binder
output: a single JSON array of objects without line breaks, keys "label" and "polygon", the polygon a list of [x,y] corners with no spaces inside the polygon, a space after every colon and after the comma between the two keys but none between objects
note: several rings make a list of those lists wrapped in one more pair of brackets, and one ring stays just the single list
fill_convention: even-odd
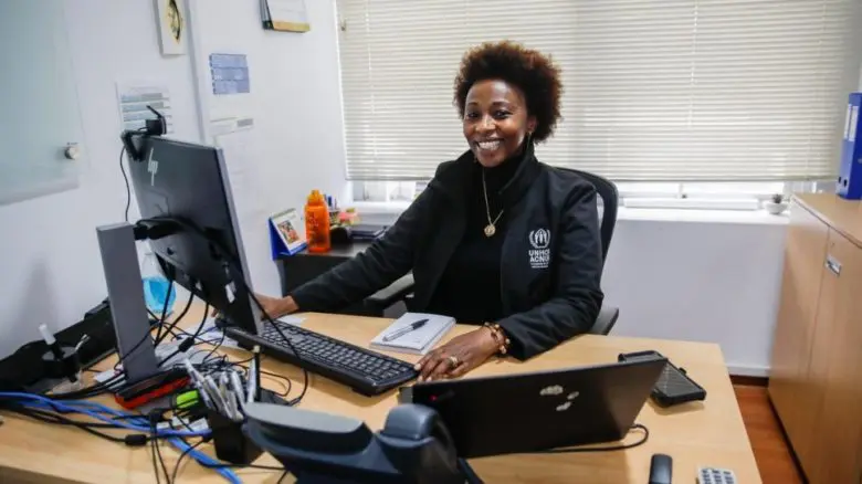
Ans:
[{"label": "light brown wooden cabinet at right, under the blue binder", "polygon": [[791,208],[769,396],[811,484],[862,480],[862,203]]}]

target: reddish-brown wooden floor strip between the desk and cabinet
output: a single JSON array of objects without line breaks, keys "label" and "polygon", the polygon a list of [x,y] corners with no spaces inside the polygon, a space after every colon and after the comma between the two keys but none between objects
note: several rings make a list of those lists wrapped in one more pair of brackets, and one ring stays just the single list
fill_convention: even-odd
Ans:
[{"label": "reddish-brown wooden floor strip between the desk and cabinet", "polygon": [[766,387],[734,385],[734,390],[764,484],[801,484]]}]

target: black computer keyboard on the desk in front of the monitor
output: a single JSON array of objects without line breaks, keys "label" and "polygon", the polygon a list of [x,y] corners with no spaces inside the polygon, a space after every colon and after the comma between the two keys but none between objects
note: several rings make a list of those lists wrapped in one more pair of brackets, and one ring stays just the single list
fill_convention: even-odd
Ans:
[{"label": "black computer keyboard on the desk in front of the monitor", "polygon": [[347,385],[365,396],[382,393],[418,376],[413,366],[407,361],[298,326],[280,322],[275,324],[291,339],[299,353],[298,357],[270,323],[264,323],[263,334],[256,336],[235,327],[225,328],[225,333],[242,345],[260,345],[264,355]]}]

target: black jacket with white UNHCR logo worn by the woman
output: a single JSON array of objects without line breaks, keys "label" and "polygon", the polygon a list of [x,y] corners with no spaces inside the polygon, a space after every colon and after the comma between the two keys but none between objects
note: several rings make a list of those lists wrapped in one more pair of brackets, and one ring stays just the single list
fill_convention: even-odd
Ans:
[{"label": "black jacket with white UNHCR logo worn by the woman", "polygon": [[[501,256],[502,301],[508,316],[496,322],[512,340],[511,355],[519,359],[588,332],[603,298],[596,189],[574,172],[538,162],[532,146],[525,156],[501,191],[512,207]],[[410,309],[423,311],[464,234],[474,162],[467,151],[441,164],[382,238],[292,292],[299,309],[335,311],[412,271]]]}]

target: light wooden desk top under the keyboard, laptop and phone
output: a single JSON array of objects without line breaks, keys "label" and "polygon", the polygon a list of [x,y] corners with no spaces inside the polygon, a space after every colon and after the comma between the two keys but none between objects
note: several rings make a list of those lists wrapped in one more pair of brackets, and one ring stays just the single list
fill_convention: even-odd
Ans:
[{"label": "light wooden desk top under the keyboard, laptop and phone", "polygon": [[[386,319],[323,314],[305,315],[304,326],[340,339],[365,346],[387,324]],[[191,322],[193,316],[189,317]],[[456,327],[449,337],[472,327]],[[621,338],[586,335],[575,338],[528,362],[492,360],[469,373],[500,375],[526,370],[571,367],[577,365],[616,361],[623,351],[656,349],[706,388],[705,402],[664,410],[646,403],[637,421],[650,429],[649,441],[627,451],[576,453],[557,455],[507,455],[471,461],[479,475],[488,483],[644,483],[649,475],[650,457],[666,453],[673,457],[674,482],[693,483],[698,465],[729,467],[739,483],[760,483],[748,435],[730,386],[730,379],[717,345],[641,338]],[[244,351],[227,353],[245,358]],[[418,358],[396,355],[400,358]],[[113,364],[105,362],[104,367]],[[292,396],[299,391],[302,372],[295,367],[272,358],[264,360],[269,371],[285,375],[293,380]],[[264,379],[270,388],[277,383]],[[109,398],[98,399],[104,403]],[[308,392],[301,408],[322,410],[365,420],[371,429],[382,427],[386,415],[396,404],[396,391],[377,398],[367,398],[347,387],[311,375]],[[505,404],[501,402],[501,404]],[[148,448],[128,449],[120,444],[88,435],[81,430],[35,422],[4,414],[0,427],[0,482],[27,483],[151,483],[155,482]],[[512,415],[513,419],[517,415]],[[639,434],[630,434],[628,441]],[[202,446],[201,449],[206,449]],[[162,445],[169,471],[179,456],[170,444]],[[275,464],[270,455],[257,464]],[[238,471],[244,482],[276,483],[277,472]],[[183,460],[178,481],[224,482],[210,470]],[[291,482],[290,477],[283,482]]]}]

